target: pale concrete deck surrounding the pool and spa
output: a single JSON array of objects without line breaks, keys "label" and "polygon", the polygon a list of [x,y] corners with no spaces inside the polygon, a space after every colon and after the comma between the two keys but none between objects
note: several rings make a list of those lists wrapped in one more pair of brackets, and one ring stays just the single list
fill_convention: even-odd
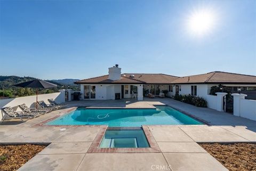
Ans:
[{"label": "pale concrete deck surrounding the pool and spa", "polygon": [[[160,152],[154,153],[88,153],[101,127],[35,127],[34,125],[65,113],[71,107],[147,108],[167,104],[209,125],[148,126]],[[172,99],[144,101],[77,101],[68,109],[47,113],[18,125],[6,121],[0,125],[0,143],[51,143],[19,170],[227,170],[201,148],[202,142],[256,142],[256,121],[225,112]],[[103,127],[103,126],[102,126]],[[65,129],[61,129],[65,128]]]}]

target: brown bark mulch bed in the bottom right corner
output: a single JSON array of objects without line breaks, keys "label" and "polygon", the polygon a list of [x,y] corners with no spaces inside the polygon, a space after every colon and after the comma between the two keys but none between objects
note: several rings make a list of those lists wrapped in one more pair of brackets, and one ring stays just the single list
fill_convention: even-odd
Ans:
[{"label": "brown bark mulch bed in the bottom right corner", "polygon": [[256,171],[256,144],[200,144],[230,171]]}]

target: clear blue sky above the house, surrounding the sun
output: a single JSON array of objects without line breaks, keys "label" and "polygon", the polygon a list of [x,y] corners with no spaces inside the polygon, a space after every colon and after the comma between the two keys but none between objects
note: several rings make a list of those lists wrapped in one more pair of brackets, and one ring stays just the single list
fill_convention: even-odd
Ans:
[{"label": "clear blue sky above the house, surrounding the sun", "polygon": [[[186,23],[211,9],[203,36]],[[256,1],[0,1],[0,75],[256,75]]]}]

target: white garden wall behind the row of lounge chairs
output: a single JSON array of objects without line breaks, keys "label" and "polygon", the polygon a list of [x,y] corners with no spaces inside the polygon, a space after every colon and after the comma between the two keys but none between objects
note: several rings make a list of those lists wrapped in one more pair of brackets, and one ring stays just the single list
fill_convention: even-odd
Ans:
[{"label": "white garden wall behind the row of lounge chairs", "polygon": [[[38,95],[38,101],[43,100],[46,104],[49,104],[48,99],[54,99],[57,103],[63,103],[65,102],[65,92],[63,91],[61,93],[50,93],[50,94]],[[2,99],[0,100],[0,109],[3,107],[12,107],[16,110],[18,109],[18,105],[23,103],[25,103],[30,108],[35,108],[36,95]],[[1,114],[0,115],[0,120],[1,120],[3,116],[2,110],[0,114]]]}]

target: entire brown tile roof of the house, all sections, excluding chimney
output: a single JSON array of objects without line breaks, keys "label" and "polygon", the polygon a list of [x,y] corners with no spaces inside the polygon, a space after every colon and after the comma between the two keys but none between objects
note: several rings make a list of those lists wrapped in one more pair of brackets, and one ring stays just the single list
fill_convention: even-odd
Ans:
[{"label": "entire brown tile roof of the house, all sections, excluding chimney", "polygon": [[[124,76],[125,75],[125,76]],[[134,77],[131,77],[134,75]],[[120,80],[108,75],[83,79],[75,84],[256,84],[256,76],[214,71],[206,74],[175,77],[165,74],[122,74]]]}]

